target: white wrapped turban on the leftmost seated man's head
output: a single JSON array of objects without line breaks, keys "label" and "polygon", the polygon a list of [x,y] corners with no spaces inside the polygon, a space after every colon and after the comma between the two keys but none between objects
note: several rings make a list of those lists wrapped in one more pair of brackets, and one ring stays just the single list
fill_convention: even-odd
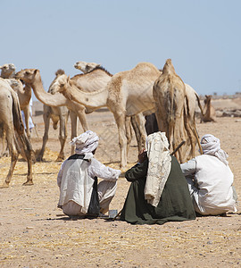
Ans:
[{"label": "white wrapped turban on the leftmost seated man's head", "polygon": [[85,158],[92,158],[92,152],[98,147],[99,137],[91,130],[87,130],[76,138],[71,140],[71,146],[75,145],[75,153],[86,155]]}]

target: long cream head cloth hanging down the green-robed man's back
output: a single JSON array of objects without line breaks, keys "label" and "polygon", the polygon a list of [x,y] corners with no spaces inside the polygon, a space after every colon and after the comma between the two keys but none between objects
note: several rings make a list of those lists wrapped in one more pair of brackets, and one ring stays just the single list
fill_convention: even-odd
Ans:
[{"label": "long cream head cloth hanging down the green-robed man's back", "polygon": [[169,142],[164,132],[154,132],[147,137],[147,157],[149,164],[144,189],[145,200],[157,206],[171,166]]}]

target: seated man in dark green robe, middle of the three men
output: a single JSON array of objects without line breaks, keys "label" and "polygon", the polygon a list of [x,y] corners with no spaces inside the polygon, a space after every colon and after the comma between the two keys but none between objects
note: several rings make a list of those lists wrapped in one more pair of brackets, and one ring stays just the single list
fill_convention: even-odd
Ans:
[{"label": "seated man in dark green robe, middle of the three men", "polygon": [[120,220],[133,224],[163,224],[195,220],[187,181],[163,132],[147,137],[147,152],[126,172],[131,181]]}]

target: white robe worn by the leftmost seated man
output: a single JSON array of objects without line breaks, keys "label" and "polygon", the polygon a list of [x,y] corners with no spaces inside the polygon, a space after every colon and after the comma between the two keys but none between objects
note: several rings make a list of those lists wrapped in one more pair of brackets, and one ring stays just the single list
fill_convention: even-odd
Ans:
[{"label": "white robe worn by the leftmost seated man", "polygon": [[[102,202],[104,206],[108,206],[115,194],[119,175],[119,170],[106,167],[95,158],[89,159],[88,162],[82,159],[65,160],[57,177],[60,188],[58,206],[69,215],[87,214],[95,177],[107,180],[99,183],[98,196],[100,205]],[[106,199],[109,203],[104,202]]]}]

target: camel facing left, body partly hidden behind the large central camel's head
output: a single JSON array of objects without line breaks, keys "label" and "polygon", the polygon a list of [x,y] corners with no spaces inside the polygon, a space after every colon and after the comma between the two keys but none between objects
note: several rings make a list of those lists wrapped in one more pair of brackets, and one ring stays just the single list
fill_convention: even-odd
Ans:
[{"label": "camel facing left, body partly hidden behind the large central camel's head", "polygon": [[[54,81],[58,78],[60,74],[61,71],[56,75]],[[66,105],[68,107],[71,116],[71,138],[77,136],[77,116],[79,117],[79,121],[82,124],[83,130],[86,131],[88,129],[85,114],[86,108],[83,105],[79,105],[79,103],[71,102],[59,93],[54,94],[54,81],[51,83],[48,93],[46,93],[42,85],[40,72],[37,69],[25,69],[23,71],[19,71],[17,75],[22,78],[22,80],[29,81],[31,87],[34,86],[33,91],[37,96],[37,99],[44,103],[44,105],[51,106],[52,109],[54,107],[59,107],[63,105]],[[111,77],[112,74],[110,74],[108,71],[105,71],[104,68],[99,67],[96,70],[93,70],[90,74],[79,74],[74,76],[72,79],[77,82],[77,85],[79,85],[79,87],[82,86],[86,90],[91,91],[96,90],[96,88],[104,87],[107,81],[111,79]],[[49,128],[49,126],[47,125],[47,117],[49,116],[49,113],[44,116],[44,120],[46,121],[46,130],[45,135],[43,137],[43,146],[37,156],[38,161],[41,161],[43,159],[47,140],[47,130]],[[62,126],[64,126],[64,123],[62,123]],[[71,148],[71,154],[73,154],[73,147]],[[64,157],[64,155],[60,153],[57,160],[61,160],[62,157]]]}]

